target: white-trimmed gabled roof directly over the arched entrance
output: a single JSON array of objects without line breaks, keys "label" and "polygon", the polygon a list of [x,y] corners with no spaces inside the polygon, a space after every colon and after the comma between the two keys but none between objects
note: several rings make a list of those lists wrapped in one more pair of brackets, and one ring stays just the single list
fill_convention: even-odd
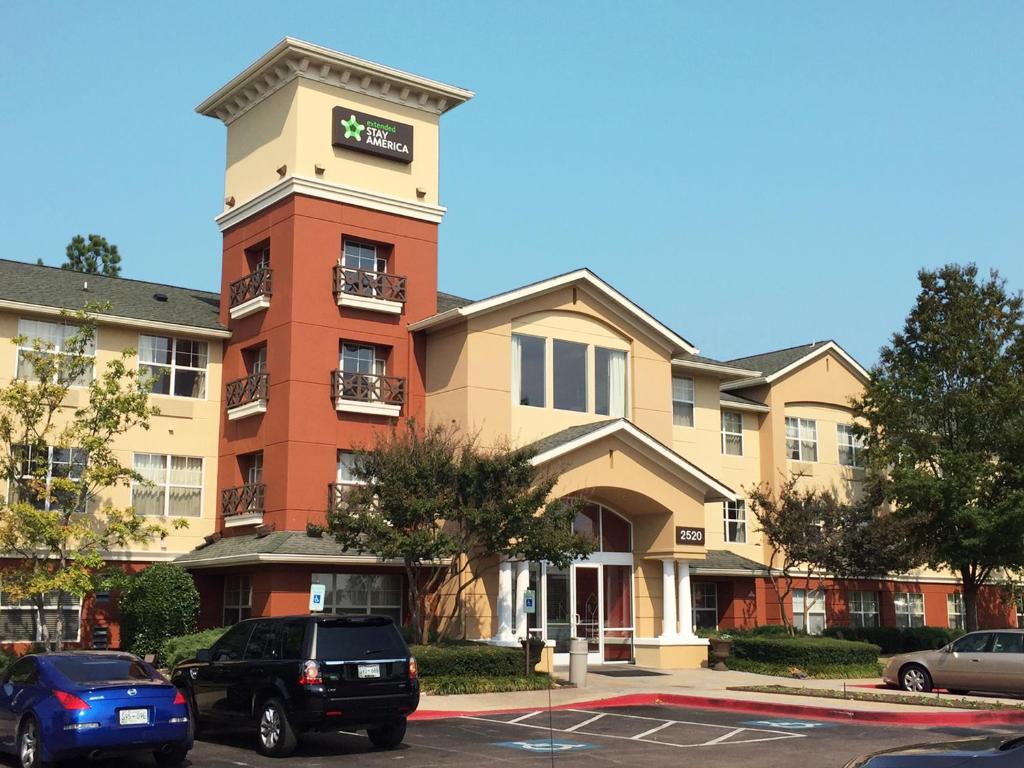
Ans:
[{"label": "white-trimmed gabled roof directly over the arched entrance", "polygon": [[706,502],[724,500],[732,502],[737,499],[735,492],[724,482],[708,474],[695,464],[688,462],[664,442],[658,441],[626,419],[608,419],[593,424],[569,427],[543,437],[525,447],[535,452],[531,460],[534,466],[540,466],[609,436],[615,436],[634,445],[660,464],[669,466],[690,484],[703,486],[706,488]]}]

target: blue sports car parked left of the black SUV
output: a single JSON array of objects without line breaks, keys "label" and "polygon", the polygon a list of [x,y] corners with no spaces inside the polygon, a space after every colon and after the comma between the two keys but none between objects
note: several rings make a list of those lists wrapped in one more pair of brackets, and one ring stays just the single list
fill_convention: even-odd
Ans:
[{"label": "blue sports car parked left of the black SUV", "polygon": [[191,744],[184,696],[130,653],[27,655],[0,682],[0,748],[22,768],[133,752],[171,768]]}]

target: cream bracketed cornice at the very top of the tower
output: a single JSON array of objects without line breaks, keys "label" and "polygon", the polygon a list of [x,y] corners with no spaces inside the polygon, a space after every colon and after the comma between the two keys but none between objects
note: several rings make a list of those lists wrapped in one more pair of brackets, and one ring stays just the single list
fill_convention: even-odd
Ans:
[{"label": "cream bracketed cornice at the very top of the tower", "polygon": [[473,92],[286,37],[196,108],[225,125],[297,78],[440,115]]}]

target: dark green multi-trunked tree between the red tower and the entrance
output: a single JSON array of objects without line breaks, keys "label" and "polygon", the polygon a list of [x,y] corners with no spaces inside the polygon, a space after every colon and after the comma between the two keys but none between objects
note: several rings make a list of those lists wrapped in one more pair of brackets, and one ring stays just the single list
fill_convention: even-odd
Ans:
[{"label": "dark green multi-trunked tree between the red tower and the entrance", "polygon": [[579,502],[550,501],[557,477],[530,459],[526,451],[483,450],[455,428],[414,422],[356,454],[353,473],[362,484],[332,505],[329,527],[348,549],[403,563],[421,642],[430,629],[425,615],[454,617],[463,594],[498,558],[564,567],[593,550],[572,532]]}]

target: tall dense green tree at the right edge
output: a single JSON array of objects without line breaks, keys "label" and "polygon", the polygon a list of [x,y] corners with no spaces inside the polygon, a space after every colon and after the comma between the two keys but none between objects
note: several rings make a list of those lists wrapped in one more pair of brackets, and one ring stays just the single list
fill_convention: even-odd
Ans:
[{"label": "tall dense green tree at the right edge", "polygon": [[959,575],[973,630],[979,589],[1024,566],[1024,312],[973,264],[919,280],[855,413],[907,547]]}]

